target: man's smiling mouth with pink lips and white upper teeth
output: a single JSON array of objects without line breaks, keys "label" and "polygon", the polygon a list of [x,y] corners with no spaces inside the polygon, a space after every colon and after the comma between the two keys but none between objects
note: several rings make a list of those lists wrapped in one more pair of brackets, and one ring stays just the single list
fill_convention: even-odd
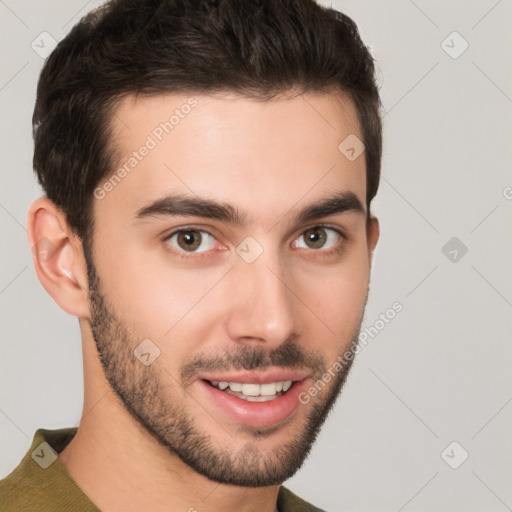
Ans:
[{"label": "man's smiling mouth with pink lips and white upper teeth", "polygon": [[214,415],[239,425],[265,428],[288,422],[297,414],[300,393],[309,375],[305,371],[244,372],[201,376],[196,381],[203,404]]}]

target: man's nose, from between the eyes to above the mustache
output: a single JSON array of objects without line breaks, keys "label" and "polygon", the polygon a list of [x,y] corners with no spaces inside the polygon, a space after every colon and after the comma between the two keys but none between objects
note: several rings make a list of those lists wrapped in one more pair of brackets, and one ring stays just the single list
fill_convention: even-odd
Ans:
[{"label": "man's nose, from between the eyes to above the mustache", "polygon": [[252,263],[237,259],[230,279],[226,328],[233,341],[272,350],[298,337],[299,301],[277,251],[265,250]]}]

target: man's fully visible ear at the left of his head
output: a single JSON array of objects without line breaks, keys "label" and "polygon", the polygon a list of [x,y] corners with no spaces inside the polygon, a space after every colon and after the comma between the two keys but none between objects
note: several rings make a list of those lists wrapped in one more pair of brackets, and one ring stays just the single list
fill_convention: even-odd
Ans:
[{"label": "man's fully visible ear at the left of his head", "polygon": [[28,240],[41,284],[67,313],[89,318],[87,266],[82,242],[65,215],[45,197],[29,208]]}]

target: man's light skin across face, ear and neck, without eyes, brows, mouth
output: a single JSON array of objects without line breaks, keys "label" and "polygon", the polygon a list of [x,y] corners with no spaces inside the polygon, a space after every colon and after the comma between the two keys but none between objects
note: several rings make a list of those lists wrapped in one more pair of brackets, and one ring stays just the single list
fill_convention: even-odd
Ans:
[{"label": "man's light skin across face, ear and neck, without eyes, brows, mouth", "polygon": [[[189,97],[122,100],[112,121],[119,164]],[[348,211],[294,220],[334,192],[352,192],[365,205],[364,155],[349,161],[338,150],[350,134],[362,139],[352,103],[332,93],[268,102],[228,93],[194,98],[197,106],[179,125],[94,199],[96,282],[88,283],[81,241],[63,213],[46,198],[29,211],[31,246],[42,238],[53,244],[50,258],[34,256],[38,277],[79,318],[82,336],[82,419],[59,458],[106,512],[274,512],[279,482],[300,467],[346,373],[286,421],[253,428],[228,418],[207,399],[198,374],[185,378],[183,369],[193,360],[199,367],[208,360],[248,367],[257,355],[255,371],[305,368],[309,387],[357,337],[366,304],[377,219],[367,224],[365,211]],[[230,203],[251,221],[241,227],[195,216],[136,218],[148,203],[176,193]],[[320,230],[329,234],[327,249],[311,248],[302,235],[322,223],[329,227]],[[164,239],[190,226],[214,237],[203,238],[201,252]],[[263,248],[252,263],[236,252],[248,236]],[[339,252],[322,255],[336,246]],[[160,349],[149,366],[133,356],[144,339]],[[177,437],[185,425],[177,418],[189,422],[187,443]],[[172,420],[175,428],[165,430]],[[175,453],[176,445],[186,452],[205,440],[195,461]],[[212,473],[223,468],[215,455],[228,462],[222,474]],[[265,468],[276,481],[248,485]],[[237,475],[245,485],[229,480]]]}]

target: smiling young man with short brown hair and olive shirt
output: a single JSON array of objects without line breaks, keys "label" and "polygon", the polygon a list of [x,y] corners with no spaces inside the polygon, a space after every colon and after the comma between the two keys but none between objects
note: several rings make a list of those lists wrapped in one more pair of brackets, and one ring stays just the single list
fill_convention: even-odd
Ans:
[{"label": "smiling young man with short brown hair and olive shirt", "polygon": [[28,217],[78,317],[78,428],[1,510],[319,510],[281,484],[346,381],[379,236],[355,24],[312,0],[118,0],[45,63]]}]

